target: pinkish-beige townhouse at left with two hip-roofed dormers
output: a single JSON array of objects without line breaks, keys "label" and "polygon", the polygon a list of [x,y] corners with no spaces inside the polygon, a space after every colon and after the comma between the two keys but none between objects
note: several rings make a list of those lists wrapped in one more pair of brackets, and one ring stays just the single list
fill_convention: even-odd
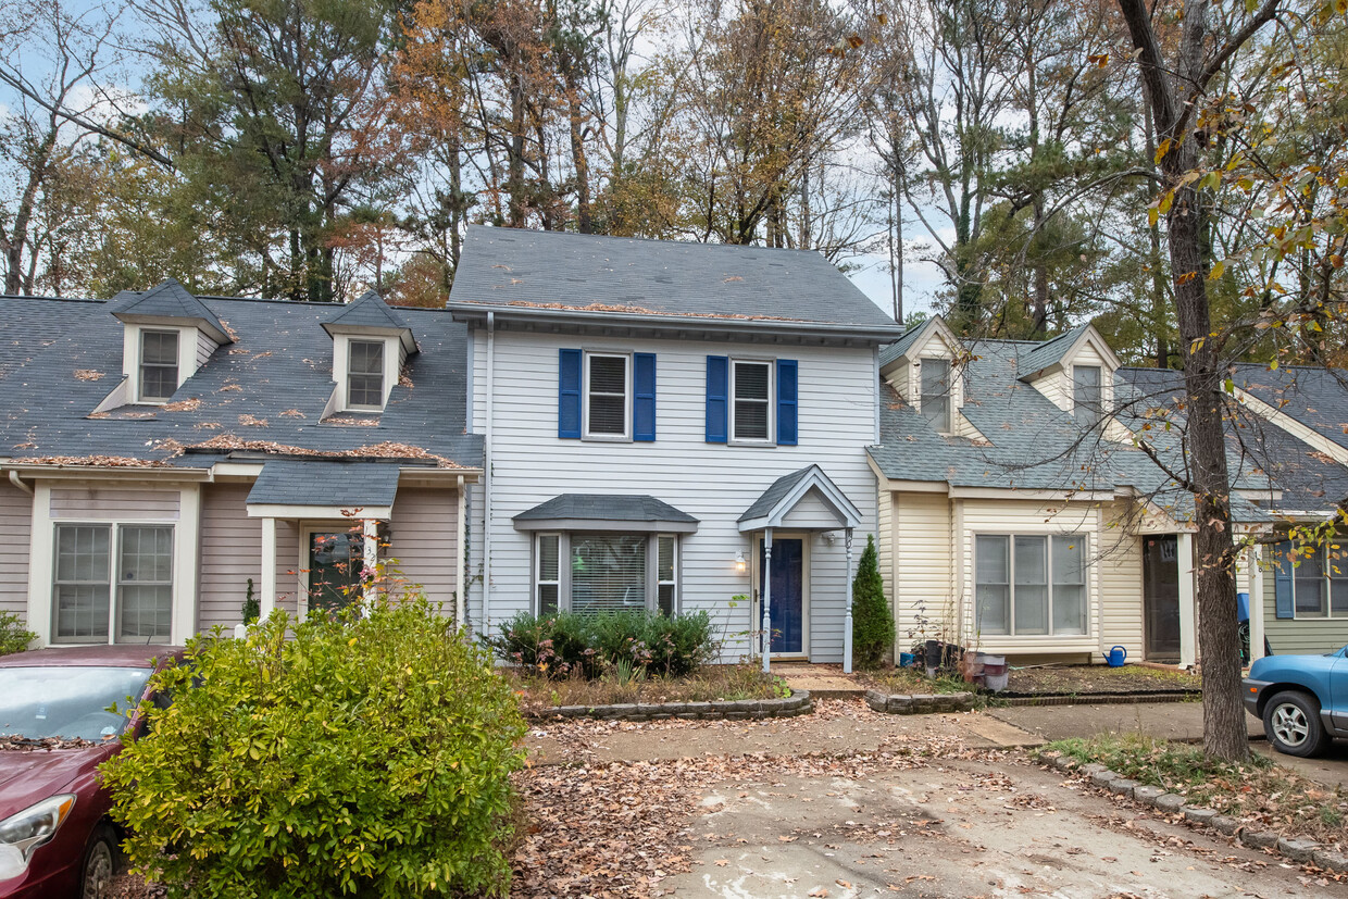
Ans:
[{"label": "pinkish-beige townhouse at left with two hip-roofed dormers", "polygon": [[249,589],[302,615],[380,551],[462,616],[481,439],[443,310],[166,282],[0,315],[0,608],[40,643],[181,643]]}]

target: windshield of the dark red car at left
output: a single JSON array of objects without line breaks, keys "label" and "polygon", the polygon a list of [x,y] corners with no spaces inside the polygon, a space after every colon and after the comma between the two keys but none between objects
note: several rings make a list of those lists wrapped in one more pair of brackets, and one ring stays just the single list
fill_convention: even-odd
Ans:
[{"label": "windshield of the dark red car at left", "polygon": [[119,736],[127,716],[108,712],[108,706],[127,709],[139,702],[151,673],[128,667],[0,667],[0,733],[32,740],[98,741]]}]

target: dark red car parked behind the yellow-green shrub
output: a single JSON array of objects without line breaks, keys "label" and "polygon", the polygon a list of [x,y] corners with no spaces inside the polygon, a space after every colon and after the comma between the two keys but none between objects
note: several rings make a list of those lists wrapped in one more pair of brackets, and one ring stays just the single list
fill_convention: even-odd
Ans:
[{"label": "dark red car parked behind the yellow-green shrub", "polygon": [[150,675],[181,656],[94,646],[0,658],[0,899],[108,895],[121,834],[98,764],[143,726],[108,708],[154,698]]}]

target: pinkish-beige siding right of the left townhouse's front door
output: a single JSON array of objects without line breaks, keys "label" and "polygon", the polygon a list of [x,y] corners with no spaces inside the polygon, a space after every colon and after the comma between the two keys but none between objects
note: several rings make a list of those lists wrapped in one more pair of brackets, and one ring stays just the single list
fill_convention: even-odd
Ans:
[{"label": "pinkish-beige siding right of the left townhouse's front door", "polygon": [[392,538],[386,550],[394,570],[426,597],[454,613],[458,495],[456,491],[404,487],[394,501]]}]

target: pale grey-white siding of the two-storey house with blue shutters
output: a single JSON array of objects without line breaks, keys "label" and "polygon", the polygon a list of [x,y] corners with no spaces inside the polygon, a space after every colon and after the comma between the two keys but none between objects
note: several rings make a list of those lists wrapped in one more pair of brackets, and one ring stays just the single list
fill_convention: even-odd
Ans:
[{"label": "pale grey-white siding of the two-storey house with blue shutters", "polygon": [[[656,439],[605,443],[557,437],[558,349],[580,348],[656,354]],[[799,445],[729,446],[705,442],[706,357],[794,359],[799,363]],[[477,332],[474,430],[485,431],[487,340]],[[743,655],[751,629],[749,573],[735,557],[752,558],[748,535],[736,519],[778,477],[818,464],[863,514],[853,565],[876,531],[876,481],[865,446],[875,435],[874,354],[871,348],[820,348],[790,344],[732,344],[678,340],[619,340],[497,332],[492,433],[492,600],[491,623],[531,608],[531,540],[515,531],[511,516],[559,493],[646,493],[700,520],[681,539],[681,608],[705,611],[720,625],[723,656]],[[483,522],[483,492],[473,491],[473,530]],[[810,656],[842,658],[847,550],[809,538]],[[481,540],[470,540],[473,573],[481,573]],[[469,615],[483,623],[481,585],[473,582]]]}]

